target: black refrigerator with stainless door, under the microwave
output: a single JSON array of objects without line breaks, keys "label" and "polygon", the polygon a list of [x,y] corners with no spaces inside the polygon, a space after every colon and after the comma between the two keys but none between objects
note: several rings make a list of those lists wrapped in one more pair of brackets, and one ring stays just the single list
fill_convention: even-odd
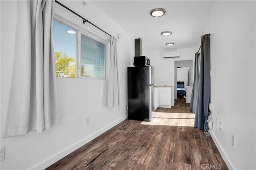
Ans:
[{"label": "black refrigerator with stainless door, under the microwave", "polygon": [[154,67],[128,67],[128,119],[151,121],[154,111]]}]

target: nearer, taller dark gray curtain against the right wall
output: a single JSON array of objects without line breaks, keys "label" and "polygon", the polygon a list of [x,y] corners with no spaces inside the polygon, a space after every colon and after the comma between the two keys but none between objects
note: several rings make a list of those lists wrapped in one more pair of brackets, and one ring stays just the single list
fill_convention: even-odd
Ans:
[{"label": "nearer, taller dark gray curtain against the right wall", "polygon": [[[210,35],[205,34],[201,38],[200,72],[198,81],[198,97],[196,103],[196,115],[194,127],[204,129],[207,120],[210,103]],[[207,122],[206,122],[207,124]]]}]

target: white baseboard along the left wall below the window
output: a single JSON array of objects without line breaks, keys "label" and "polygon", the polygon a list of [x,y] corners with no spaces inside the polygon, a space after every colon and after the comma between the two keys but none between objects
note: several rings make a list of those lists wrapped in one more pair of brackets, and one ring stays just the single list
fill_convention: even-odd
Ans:
[{"label": "white baseboard along the left wall below the window", "polygon": [[92,135],[82,139],[81,141],[75,143],[74,145],[71,145],[70,147],[58,152],[57,154],[51,156],[47,160],[44,160],[40,164],[37,164],[36,166],[34,166],[33,168],[30,168],[30,169],[32,169],[32,170],[42,170],[42,169],[47,168],[48,166],[50,166],[50,165],[54,164],[55,162],[57,162],[58,160],[64,158],[65,156],[67,156],[68,154],[73,152],[74,150],[82,147],[86,143],[88,143],[88,142],[92,141],[93,139],[95,139],[96,137],[100,136],[102,133],[108,131],[109,129],[111,129],[112,127],[117,125],[118,123],[121,123],[122,121],[127,119],[127,117],[128,117],[127,115],[124,116],[124,117],[121,117],[120,119],[114,121],[113,123],[110,123],[106,127],[102,128],[99,131],[93,133]]}]

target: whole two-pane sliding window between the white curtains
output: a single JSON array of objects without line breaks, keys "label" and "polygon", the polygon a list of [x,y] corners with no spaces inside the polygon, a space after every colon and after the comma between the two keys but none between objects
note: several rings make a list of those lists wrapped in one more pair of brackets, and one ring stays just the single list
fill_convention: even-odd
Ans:
[{"label": "whole two-pane sliding window between the white curtains", "polygon": [[106,78],[107,43],[101,38],[92,37],[96,36],[81,33],[78,29],[54,20],[53,41],[57,77]]}]

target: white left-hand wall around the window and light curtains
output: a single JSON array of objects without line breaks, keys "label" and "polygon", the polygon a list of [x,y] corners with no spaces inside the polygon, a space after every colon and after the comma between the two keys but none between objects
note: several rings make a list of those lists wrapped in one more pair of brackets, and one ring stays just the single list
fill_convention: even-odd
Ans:
[{"label": "white left-hand wall around the window and light curtains", "polygon": [[[1,1],[0,133],[1,147],[6,147],[5,160],[1,161],[1,169],[31,169],[33,167],[44,169],[127,117],[125,110],[127,103],[126,67],[132,64],[134,38],[89,1],[86,1],[86,6],[82,6],[81,1],[61,1],[61,3],[106,32],[114,36],[120,33],[121,39],[118,39],[117,47],[121,107],[119,110],[116,107],[108,107],[107,80],[57,78],[60,125],[43,133],[31,131],[27,135],[2,138],[12,75],[17,2]],[[92,25],[82,24],[80,18],[58,4],[56,4],[56,12],[97,35],[108,37]],[[86,116],[90,117],[88,125],[85,124]]]}]

